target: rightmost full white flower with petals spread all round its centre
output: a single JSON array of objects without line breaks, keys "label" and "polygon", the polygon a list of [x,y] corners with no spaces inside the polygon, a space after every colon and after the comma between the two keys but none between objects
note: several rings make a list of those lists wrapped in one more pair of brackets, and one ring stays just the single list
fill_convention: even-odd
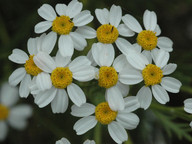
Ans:
[{"label": "rightmost full white flower with petals spread all round its centre", "polygon": [[153,50],[152,58],[155,64],[150,63],[146,56],[136,51],[129,53],[126,58],[135,70],[124,70],[121,73],[122,82],[137,84],[144,81],[145,85],[139,90],[137,95],[142,108],[147,109],[150,106],[152,94],[159,103],[165,104],[169,101],[167,91],[172,93],[179,92],[182,85],[181,82],[172,77],[164,77],[174,72],[177,67],[176,64],[167,64],[169,60],[168,52]]}]

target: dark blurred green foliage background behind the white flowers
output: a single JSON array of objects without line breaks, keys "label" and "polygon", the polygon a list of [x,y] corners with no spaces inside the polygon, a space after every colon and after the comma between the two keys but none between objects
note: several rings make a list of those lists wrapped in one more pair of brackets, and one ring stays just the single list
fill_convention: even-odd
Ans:
[{"label": "dark blurred green foliage background behind the white flowers", "polygon": [[[169,62],[178,65],[172,74],[183,86],[178,94],[170,94],[170,102],[159,105],[154,102],[147,111],[138,110],[139,127],[129,131],[129,141],[126,144],[191,144],[192,133],[189,121],[192,116],[183,111],[183,101],[192,97],[192,0],[80,0],[84,9],[95,16],[96,8],[110,8],[112,4],[120,5],[124,14],[131,14],[142,22],[145,9],[153,10],[158,17],[161,35],[171,38],[174,51]],[[39,36],[34,33],[34,26],[42,19],[37,9],[44,3],[53,7],[57,3],[68,4],[69,0],[1,0],[0,1],[0,82],[7,81],[9,75],[20,67],[7,57],[14,48],[27,51],[27,40]],[[90,24],[97,28],[99,23],[95,18]],[[130,39],[129,39],[130,40]],[[89,40],[83,52],[75,55],[86,55],[95,40]],[[130,40],[135,42],[135,38]],[[96,81],[79,83],[88,96],[88,101],[97,104],[104,100],[104,90],[96,87]],[[139,86],[131,90],[135,95]],[[61,137],[68,138],[72,144],[82,143],[86,139],[95,139],[98,144],[113,144],[106,126],[97,125],[82,136],[77,136],[72,129],[78,118],[70,115],[70,106],[64,114],[52,114],[50,106],[39,109],[33,102],[33,97],[21,99],[21,103],[29,103],[34,108],[34,115],[29,119],[25,131],[19,132],[10,128],[3,144],[53,144]],[[162,142],[162,143],[160,143]]]}]

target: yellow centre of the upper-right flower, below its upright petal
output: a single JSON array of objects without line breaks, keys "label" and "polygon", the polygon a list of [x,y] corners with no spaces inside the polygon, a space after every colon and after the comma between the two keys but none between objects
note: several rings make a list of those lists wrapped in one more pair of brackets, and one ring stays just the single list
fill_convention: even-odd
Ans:
[{"label": "yellow centre of the upper-right flower, below its upright petal", "polygon": [[143,30],[137,36],[137,43],[144,50],[153,50],[157,46],[157,37],[155,34],[153,31]]}]

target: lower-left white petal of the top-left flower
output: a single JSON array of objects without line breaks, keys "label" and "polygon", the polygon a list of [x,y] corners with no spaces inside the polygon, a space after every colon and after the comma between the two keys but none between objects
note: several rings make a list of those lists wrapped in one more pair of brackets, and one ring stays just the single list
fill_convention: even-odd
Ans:
[{"label": "lower-left white petal of the top-left flower", "polygon": [[50,21],[42,21],[35,25],[35,33],[43,33],[48,30],[52,26],[52,22]]}]

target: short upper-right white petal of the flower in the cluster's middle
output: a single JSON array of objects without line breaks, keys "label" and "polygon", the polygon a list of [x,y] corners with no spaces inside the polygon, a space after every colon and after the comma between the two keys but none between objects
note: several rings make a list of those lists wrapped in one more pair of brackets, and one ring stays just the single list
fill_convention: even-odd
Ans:
[{"label": "short upper-right white petal of the flower in the cluster's middle", "polygon": [[121,54],[115,58],[113,62],[113,67],[117,72],[120,72],[123,70],[123,68],[126,66],[127,63],[128,62],[125,55]]}]

